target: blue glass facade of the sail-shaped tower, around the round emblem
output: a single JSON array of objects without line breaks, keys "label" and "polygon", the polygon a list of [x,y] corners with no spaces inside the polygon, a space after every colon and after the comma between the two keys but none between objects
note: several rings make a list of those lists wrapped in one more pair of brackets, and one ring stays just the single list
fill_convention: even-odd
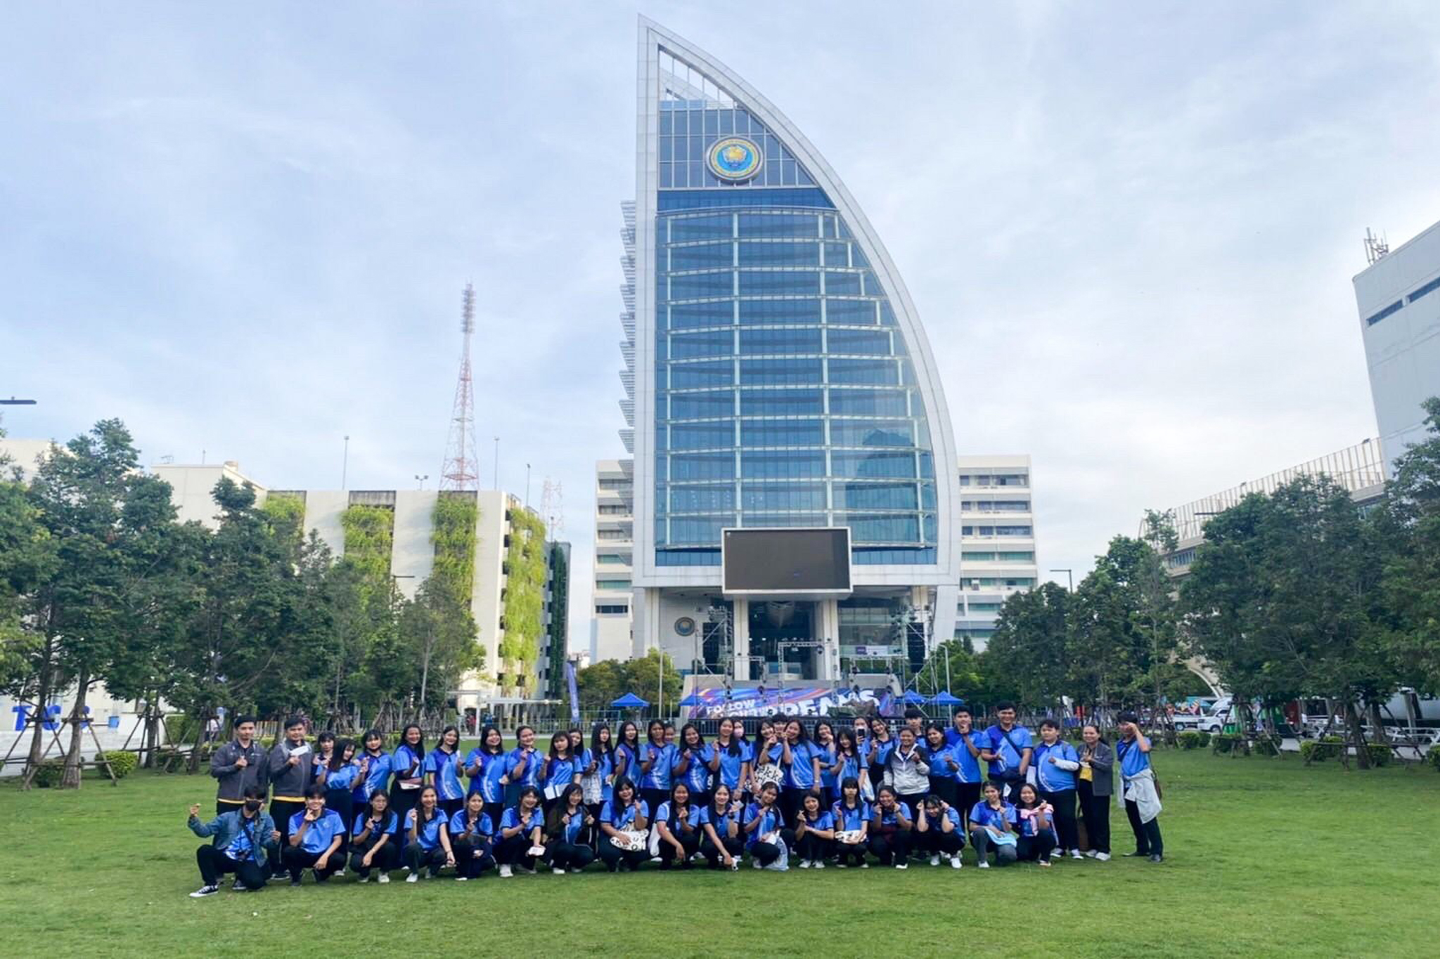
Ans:
[{"label": "blue glass facade of the sail-shaped tower, around the round emblem", "polygon": [[[717,177],[742,135],[765,162]],[[850,526],[855,564],[936,562],[914,368],[831,198],[737,105],[665,99],[655,203],[658,566],[719,565],[727,526]]]}]

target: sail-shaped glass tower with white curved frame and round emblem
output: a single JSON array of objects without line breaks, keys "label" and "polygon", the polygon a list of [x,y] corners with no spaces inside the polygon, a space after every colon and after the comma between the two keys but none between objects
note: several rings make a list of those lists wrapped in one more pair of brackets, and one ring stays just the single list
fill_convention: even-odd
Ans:
[{"label": "sail-shaped glass tower with white curved frame and round emblem", "polygon": [[[950,637],[953,437],[904,283],[795,125],[645,19],[625,213],[635,654],[834,680]],[[727,595],[721,533],[757,528],[848,528],[847,592]]]}]

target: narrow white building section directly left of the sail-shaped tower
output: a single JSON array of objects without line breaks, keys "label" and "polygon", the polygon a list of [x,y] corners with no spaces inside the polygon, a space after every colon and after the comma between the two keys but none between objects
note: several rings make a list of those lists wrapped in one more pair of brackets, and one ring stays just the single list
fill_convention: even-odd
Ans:
[{"label": "narrow white building section directly left of the sail-shaped tower", "polygon": [[590,661],[628,660],[635,548],[635,463],[595,464],[595,582]]}]

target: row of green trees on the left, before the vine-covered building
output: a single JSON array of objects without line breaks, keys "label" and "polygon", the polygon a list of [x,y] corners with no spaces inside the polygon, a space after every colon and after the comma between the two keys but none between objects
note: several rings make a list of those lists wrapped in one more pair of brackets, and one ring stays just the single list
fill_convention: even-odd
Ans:
[{"label": "row of green trees on the left, before the vine-covered building", "polygon": [[[478,666],[465,597],[432,577],[406,600],[389,566],[337,561],[284,497],[228,479],[217,526],[180,523],[118,420],[52,449],[26,482],[0,479],[0,690],[40,709],[75,700],[63,785],[81,775],[86,697],[104,683],[204,720],[225,706],[307,710],[346,728],[442,705]],[[30,766],[45,751],[33,725]]]}]

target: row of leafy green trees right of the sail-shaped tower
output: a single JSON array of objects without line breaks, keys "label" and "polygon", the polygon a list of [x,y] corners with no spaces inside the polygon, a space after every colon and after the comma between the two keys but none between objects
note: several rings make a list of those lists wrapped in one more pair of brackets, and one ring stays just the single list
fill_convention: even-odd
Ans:
[{"label": "row of leafy green trees right of the sail-shaped tower", "polygon": [[1325,476],[1250,493],[1205,523],[1178,587],[1165,566],[1175,531],[1151,512],[1145,535],[1112,539],[1074,592],[1011,597],[984,654],[943,644],[923,682],[948,660],[956,694],[1162,715],[1200,692],[1191,663],[1241,709],[1325,699],[1356,746],[1367,715],[1384,735],[1380,707],[1397,690],[1440,694],[1440,400],[1426,413],[1427,440],[1378,503]]}]

